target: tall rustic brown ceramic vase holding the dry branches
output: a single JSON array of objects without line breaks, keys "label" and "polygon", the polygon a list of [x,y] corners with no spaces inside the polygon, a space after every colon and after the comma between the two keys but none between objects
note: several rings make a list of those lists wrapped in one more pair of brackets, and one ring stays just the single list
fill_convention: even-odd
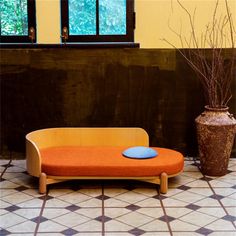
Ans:
[{"label": "tall rustic brown ceramic vase holding the dry branches", "polygon": [[205,106],[205,111],[195,122],[201,172],[209,176],[225,175],[236,133],[236,120],[228,112],[228,107]]}]

